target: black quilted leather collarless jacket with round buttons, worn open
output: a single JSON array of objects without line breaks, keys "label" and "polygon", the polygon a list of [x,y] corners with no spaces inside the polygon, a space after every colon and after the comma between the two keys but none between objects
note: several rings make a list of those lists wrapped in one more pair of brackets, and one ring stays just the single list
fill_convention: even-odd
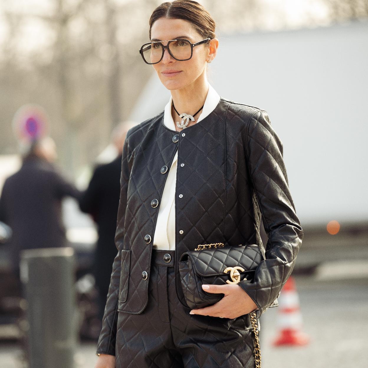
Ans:
[{"label": "black quilted leather collarless jacket with round buttons, worn open", "polygon": [[[212,113],[180,132],[168,129],[163,116],[162,111],[132,127],[125,139],[118,253],[97,353],[115,355],[119,312],[139,314],[147,305],[157,201],[177,149],[175,270],[180,300],[181,254],[198,244],[257,244],[266,259],[253,283],[239,284],[258,306],[259,317],[277,305],[301,246],[303,231],[289,190],[283,144],[265,110],[221,98]],[[266,247],[259,235],[261,214]]]}]

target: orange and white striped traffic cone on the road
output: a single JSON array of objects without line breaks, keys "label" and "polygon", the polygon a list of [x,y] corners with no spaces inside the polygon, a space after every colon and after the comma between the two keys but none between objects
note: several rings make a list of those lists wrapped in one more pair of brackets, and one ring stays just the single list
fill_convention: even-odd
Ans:
[{"label": "orange and white striped traffic cone on the road", "polygon": [[302,346],[309,343],[309,336],[301,331],[302,315],[296,285],[292,276],[287,279],[279,296],[279,336],[273,346]]}]

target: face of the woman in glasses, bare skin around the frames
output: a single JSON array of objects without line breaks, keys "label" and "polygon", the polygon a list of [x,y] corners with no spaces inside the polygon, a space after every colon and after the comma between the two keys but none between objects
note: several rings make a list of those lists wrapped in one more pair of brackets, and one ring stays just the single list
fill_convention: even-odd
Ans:
[{"label": "face of the woman in glasses, bare skin around the frames", "polygon": [[[186,38],[191,43],[202,41],[202,37],[192,26],[191,22],[183,19],[159,18],[151,28],[151,41],[173,40],[177,37]],[[164,46],[167,42],[162,42]],[[196,81],[206,68],[206,60],[210,57],[210,47],[206,44],[193,47],[193,56],[190,60],[175,60],[165,49],[162,60],[153,64],[161,83],[167,89],[181,89]],[[171,72],[171,74],[170,74]]]}]

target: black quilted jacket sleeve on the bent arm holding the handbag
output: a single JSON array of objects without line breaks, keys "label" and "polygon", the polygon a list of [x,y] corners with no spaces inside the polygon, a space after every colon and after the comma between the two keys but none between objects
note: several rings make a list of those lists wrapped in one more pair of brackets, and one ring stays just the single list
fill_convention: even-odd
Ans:
[{"label": "black quilted jacket sleeve on the bent arm holding the handbag", "polygon": [[258,306],[259,318],[293,271],[303,239],[289,190],[283,144],[265,110],[255,112],[249,121],[245,158],[268,241],[265,260],[256,268],[253,282],[241,280],[240,286]]}]

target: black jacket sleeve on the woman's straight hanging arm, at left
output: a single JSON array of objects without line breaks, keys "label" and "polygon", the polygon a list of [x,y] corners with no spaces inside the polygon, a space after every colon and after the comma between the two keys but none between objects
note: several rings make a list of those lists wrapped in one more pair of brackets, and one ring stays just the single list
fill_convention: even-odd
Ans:
[{"label": "black jacket sleeve on the woman's straight hanging arm, at left", "polygon": [[129,135],[130,130],[128,130],[125,137],[123,154],[121,158],[120,199],[115,233],[115,245],[117,248],[117,255],[115,256],[113,262],[109,292],[107,293],[105,312],[102,319],[102,330],[98,339],[96,354],[101,353],[115,355],[118,317],[117,307],[121,271],[121,250],[123,250],[124,245],[124,220],[125,210],[127,207],[127,191],[130,178],[130,170],[133,161],[133,155],[128,144]]}]

